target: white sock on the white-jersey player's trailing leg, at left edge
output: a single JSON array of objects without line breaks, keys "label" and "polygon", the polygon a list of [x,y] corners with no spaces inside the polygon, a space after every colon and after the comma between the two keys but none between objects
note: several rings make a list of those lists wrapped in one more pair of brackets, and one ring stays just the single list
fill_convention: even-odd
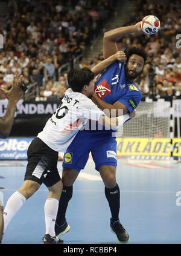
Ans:
[{"label": "white sock on the white-jersey player's trailing leg, at left edge", "polygon": [[20,192],[16,191],[8,199],[4,209],[4,232],[17,211],[24,205],[27,199]]}]

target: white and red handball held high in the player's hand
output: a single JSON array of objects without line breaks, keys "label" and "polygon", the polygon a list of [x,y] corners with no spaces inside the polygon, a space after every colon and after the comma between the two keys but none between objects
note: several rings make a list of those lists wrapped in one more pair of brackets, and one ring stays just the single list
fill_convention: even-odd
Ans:
[{"label": "white and red handball held high in the player's hand", "polygon": [[141,21],[141,29],[145,34],[155,34],[159,31],[160,21],[154,15],[148,15]]}]

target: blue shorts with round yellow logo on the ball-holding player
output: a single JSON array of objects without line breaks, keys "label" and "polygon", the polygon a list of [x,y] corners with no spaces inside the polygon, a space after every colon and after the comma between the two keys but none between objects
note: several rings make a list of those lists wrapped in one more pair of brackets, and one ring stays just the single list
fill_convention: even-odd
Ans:
[{"label": "blue shorts with round yellow logo on the ball-holding player", "polygon": [[116,167],[116,144],[111,131],[79,131],[63,156],[63,167],[79,172],[84,169],[90,152],[97,171],[103,165]]}]

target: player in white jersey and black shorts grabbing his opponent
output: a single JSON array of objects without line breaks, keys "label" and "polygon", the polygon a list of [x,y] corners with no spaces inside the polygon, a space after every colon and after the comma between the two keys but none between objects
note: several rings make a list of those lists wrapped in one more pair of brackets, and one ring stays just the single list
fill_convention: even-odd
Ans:
[{"label": "player in white jersey and black shorts grabbing his opponent", "polygon": [[94,93],[95,74],[101,73],[116,60],[122,61],[124,57],[125,54],[118,51],[100,62],[93,71],[82,68],[68,73],[68,84],[71,88],[66,90],[56,112],[28,148],[24,183],[11,195],[4,209],[4,232],[16,212],[44,183],[49,190],[49,195],[44,206],[46,230],[43,243],[63,243],[63,240],[57,238],[55,234],[55,221],[63,188],[57,169],[58,154],[66,151],[78,131],[89,119],[98,121],[108,129],[116,129],[130,117],[135,116],[133,112],[110,119],[89,99]]}]

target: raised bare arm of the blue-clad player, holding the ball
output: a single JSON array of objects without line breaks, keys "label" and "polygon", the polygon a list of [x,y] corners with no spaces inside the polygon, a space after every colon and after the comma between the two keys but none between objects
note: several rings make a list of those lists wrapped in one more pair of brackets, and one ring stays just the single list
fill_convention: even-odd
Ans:
[{"label": "raised bare arm of the blue-clad player, holding the ball", "polygon": [[104,59],[107,59],[112,54],[115,54],[118,51],[118,47],[116,46],[116,41],[123,38],[127,34],[131,33],[142,33],[141,30],[141,21],[136,23],[135,25],[115,28],[113,30],[107,31],[104,33],[103,38],[103,56]]}]

